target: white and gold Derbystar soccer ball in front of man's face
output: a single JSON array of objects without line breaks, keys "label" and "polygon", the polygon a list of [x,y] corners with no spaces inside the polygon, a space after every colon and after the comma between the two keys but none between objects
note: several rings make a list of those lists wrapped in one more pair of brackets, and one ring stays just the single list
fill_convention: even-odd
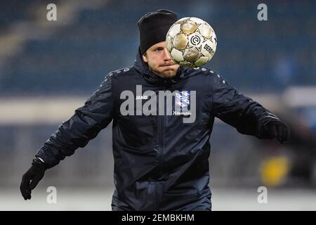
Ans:
[{"label": "white and gold Derbystar soccer ball in front of man's face", "polygon": [[166,49],[179,65],[195,68],[209,62],[217,46],[213,28],[195,17],[182,18],[166,34]]}]

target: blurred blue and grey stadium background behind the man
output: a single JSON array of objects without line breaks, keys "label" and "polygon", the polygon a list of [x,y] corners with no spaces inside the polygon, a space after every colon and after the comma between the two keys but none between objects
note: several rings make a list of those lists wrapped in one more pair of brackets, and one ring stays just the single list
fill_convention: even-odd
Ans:
[{"label": "blurred blue and grey stadium background behind the man", "polygon": [[[48,21],[48,4],[57,21]],[[268,21],[258,21],[258,4]],[[211,136],[213,210],[316,210],[316,1],[0,2],[0,210],[110,210],[110,125],[84,149],[46,172],[25,202],[22,174],[58,125],[112,70],[133,64],[138,19],[168,8],[216,31],[207,67],[291,126],[280,145],[242,136],[216,121]],[[46,203],[46,188],[58,204]],[[268,188],[268,204],[257,189]]]}]

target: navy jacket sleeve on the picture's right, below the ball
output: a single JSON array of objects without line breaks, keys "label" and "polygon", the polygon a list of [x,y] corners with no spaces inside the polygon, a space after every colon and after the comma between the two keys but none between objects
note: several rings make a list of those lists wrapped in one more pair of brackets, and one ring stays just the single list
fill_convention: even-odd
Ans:
[{"label": "navy jacket sleeve on the picture's right, below the ball", "polygon": [[261,104],[239,93],[216,72],[213,72],[212,101],[213,115],[241,134],[267,139],[263,126],[268,121],[279,120]]}]

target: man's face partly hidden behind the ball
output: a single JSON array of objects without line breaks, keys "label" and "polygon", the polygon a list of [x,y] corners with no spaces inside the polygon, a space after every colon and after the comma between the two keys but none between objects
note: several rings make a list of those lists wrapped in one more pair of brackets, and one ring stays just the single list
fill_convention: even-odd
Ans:
[{"label": "man's face partly hidden behind the ball", "polygon": [[171,60],[166,49],[166,41],[151,46],[143,54],[143,60],[148,63],[151,70],[164,77],[174,77],[179,65]]}]

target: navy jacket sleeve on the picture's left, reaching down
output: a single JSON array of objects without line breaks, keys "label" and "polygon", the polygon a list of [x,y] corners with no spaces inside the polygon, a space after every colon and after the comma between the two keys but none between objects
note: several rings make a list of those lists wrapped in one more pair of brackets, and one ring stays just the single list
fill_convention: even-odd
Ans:
[{"label": "navy jacket sleeve on the picture's left, reaching down", "polygon": [[107,127],[112,121],[112,112],[112,80],[106,76],[99,89],[74,111],[69,120],[62,122],[35,156],[43,160],[48,168],[58,165],[60,160],[74,154],[77,148],[86,146],[101,129]]}]

